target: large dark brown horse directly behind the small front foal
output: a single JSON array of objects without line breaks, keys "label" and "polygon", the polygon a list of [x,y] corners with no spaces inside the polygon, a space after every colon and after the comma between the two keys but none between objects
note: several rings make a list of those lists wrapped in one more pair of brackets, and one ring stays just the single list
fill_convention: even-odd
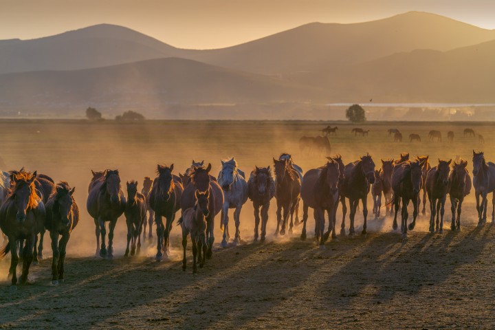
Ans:
[{"label": "large dark brown horse directly behind the small front foal", "polygon": [[182,212],[188,208],[195,206],[196,190],[200,192],[208,191],[208,217],[206,217],[206,241],[208,243],[208,250],[206,251],[206,258],[210,259],[212,256],[212,246],[214,243],[214,217],[221,211],[223,207],[223,191],[218,182],[212,179],[210,175],[211,164],[205,168],[204,166],[194,167],[190,173],[190,183],[180,199],[180,206]]}]

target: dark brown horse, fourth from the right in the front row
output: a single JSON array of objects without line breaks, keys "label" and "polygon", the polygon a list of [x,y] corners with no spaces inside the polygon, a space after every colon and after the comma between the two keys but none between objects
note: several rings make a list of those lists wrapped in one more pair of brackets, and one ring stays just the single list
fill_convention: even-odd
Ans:
[{"label": "dark brown horse, fourth from the right in the front row", "polygon": [[[402,202],[401,208],[401,232],[403,237],[407,237],[407,231],[413,230],[416,225],[416,218],[418,214],[418,195],[421,190],[421,167],[423,164],[416,160],[415,162],[403,162],[397,164],[394,167],[392,173],[392,188],[394,190],[394,221],[392,228],[397,230],[397,211],[399,210],[400,202]],[[412,212],[412,223],[407,225],[408,219],[408,204],[412,201],[414,211]]]}]

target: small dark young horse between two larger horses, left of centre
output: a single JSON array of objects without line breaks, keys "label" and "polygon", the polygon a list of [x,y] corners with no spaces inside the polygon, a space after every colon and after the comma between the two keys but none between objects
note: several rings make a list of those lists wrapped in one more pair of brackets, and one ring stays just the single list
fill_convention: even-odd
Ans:
[{"label": "small dark young horse between two larger horses, left of centre", "polygon": [[[137,192],[137,181],[127,182],[127,201],[124,210],[127,225],[127,245],[124,256],[129,256],[129,243],[131,243],[131,256],[140,254],[141,232],[146,223],[146,197]],[[136,250],[137,240],[137,250]]]}]

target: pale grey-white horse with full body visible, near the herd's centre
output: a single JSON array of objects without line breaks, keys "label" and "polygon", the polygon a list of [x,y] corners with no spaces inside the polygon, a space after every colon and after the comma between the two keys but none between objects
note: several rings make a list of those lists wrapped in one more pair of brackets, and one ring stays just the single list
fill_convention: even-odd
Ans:
[{"label": "pale grey-white horse with full body visible, near the herd's centre", "polygon": [[235,208],[234,222],[236,232],[234,244],[241,242],[241,233],[239,225],[241,224],[241,209],[246,201],[248,201],[248,181],[245,179],[245,174],[237,167],[237,162],[232,157],[230,160],[221,160],[222,168],[217,177],[217,181],[223,190],[223,207],[221,210],[220,229],[223,228],[223,239],[221,247],[227,247],[228,234],[228,210]]}]

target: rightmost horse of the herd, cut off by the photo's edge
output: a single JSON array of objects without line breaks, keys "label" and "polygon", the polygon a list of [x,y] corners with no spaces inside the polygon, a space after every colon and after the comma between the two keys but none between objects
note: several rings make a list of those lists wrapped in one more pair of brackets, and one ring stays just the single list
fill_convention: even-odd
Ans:
[{"label": "rightmost horse of the herd, cut off by the photo's edge", "polygon": [[[473,186],[476,197],[476,210],[478,210],[478,225],[486,223],[488,207],[487,195],[495,190],[495,164],[485,162],[483,151],[476,153],[473,150]],[[481,197],[481,203],[480,203]],[[492,199],[492,207],[495,208],[495,200]],[[495,212],[492,212],[492,223],[495,222]]]}]

